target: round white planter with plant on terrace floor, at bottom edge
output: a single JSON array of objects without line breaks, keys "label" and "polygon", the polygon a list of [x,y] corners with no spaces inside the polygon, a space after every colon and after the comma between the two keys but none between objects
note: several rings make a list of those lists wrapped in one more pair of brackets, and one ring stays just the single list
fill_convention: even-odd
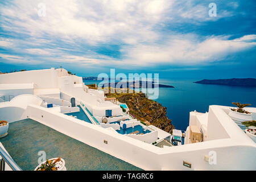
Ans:
[{"label": "round white planter with plant on terrace floor, at bottom edge", "polygon": [[35,168],[35,171],[67,171],[65,160],[62,158],[47,159]]}]

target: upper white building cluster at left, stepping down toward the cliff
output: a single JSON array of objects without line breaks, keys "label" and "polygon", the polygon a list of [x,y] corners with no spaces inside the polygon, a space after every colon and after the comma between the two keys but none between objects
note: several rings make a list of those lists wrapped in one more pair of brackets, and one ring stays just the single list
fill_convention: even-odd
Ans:
[{"label": "upper white building cluster at left, stepping down toward the cliff", "polygon": [[107,109],[112,110],[113,115],[122,113],[119,106],[105,101],[104,92],[88,89],[82,77],[69,75],[62,68],[8,73],[1,75],[0,84],[0,96],[34,94],[67,101],[74,97],[76,102],[82,101],[94,116],[104,116]]}]

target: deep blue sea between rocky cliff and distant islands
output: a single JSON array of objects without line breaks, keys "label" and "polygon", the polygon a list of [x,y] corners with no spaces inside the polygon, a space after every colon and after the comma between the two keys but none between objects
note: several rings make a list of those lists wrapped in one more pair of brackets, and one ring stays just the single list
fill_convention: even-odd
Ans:
[{"label": "deep blue sea between rocky cliff and distant islands", "polygon": [[[175,88],[159,88],[159,97],[155,101],[167,107],[167,117],[176,129],[186,130],[189,125],[189,112],[205,113],[209,105],[233,106],[232,102],[251,104],[256,107],[256,88],[225,85],[195,84],[202,79],[164,78],[159,84],[172,85]],[[95,84],[99,81],[84,81]]]}]

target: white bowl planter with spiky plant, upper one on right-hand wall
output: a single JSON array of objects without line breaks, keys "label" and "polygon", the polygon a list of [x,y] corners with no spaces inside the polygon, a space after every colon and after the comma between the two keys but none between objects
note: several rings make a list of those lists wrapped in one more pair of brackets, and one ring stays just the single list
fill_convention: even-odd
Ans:
[{"label": "white bowl planter with spiky plant, upper one on right-hand wall", "polygon": [[241,125],[243,121],[251,121],[253,118],[251,117],[251,113],[249,111],[244,110],[243,108],[246,106],[250,106],[250,104],[240,104],[239,102],[232,102],[232,104],[236,105],[237,108],[230,108],[229,116]]}]

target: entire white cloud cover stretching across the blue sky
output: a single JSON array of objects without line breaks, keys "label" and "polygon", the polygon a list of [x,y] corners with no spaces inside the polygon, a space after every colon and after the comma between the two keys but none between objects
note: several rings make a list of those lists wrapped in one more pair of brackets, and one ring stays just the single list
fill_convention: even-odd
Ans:
[{"label": "entire white cloud cover stretching across the blue sky", "polygon": [[[38,16],[39,3],[46,3],[46,17]],[[238,4],[232,6],[237,8]],[[4,31],[21,38],[2,38],[0,46],[28,56],[12,57],[8,53],[1,57],[10,63],[36,64],[40,61],[28,61],[30,57],[42,56],[49,62],[131,68],[207,63],[255,46],[255,35],[229,40],[228,36],[199,38],[177,32],[166,35],[157,30],[166,22],[209,21],[208,10],[206,3],[185,0],[16,0],[13,5],[0,7],[0,23]],[[230,11],[220,11],[215,20],[232,15]],[[123,59],[84,48],[102,43],[121,45]],[[59,44],[65,44],[64,48]],[[79,53],[74,53],[76,50]]]}]

